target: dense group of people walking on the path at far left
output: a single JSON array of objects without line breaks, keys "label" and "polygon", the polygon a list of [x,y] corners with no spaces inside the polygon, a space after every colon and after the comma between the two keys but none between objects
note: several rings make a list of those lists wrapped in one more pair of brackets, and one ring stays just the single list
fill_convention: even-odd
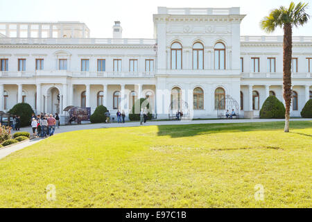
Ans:
[{"label": "dense group of people walking on the path at far left", "polygon": [[57,113],[39,114],[31,117],[31,128],[33,128],[32,137],[49,137],[54,135],[55,127],[60,128],[60,117]]}]

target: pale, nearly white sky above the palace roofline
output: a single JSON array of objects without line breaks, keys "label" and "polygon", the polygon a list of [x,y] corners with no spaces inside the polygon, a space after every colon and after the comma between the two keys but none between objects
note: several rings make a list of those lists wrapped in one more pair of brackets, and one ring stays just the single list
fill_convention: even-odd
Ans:
[{"label": "pale, nearly white sky above the palace roofline", "polygon": [[[299,0],[294,0],[296,3]],[[114,21],[121,21],[123,37],[153,37],[153,14],[157,6],[173,8],[241,7],[247,15],[241,24],[241,35],[266,35],[259,28],[260,20],[270,10],[288,6],[288,0],[0,0],[1,22],[85,22],[91,37],[112,37]],[[312,1],[309,14],[312,17]],[[312,35],[311,22],[295,28],[294,35]],[[272,35],[282,35],[278,30]]]}]

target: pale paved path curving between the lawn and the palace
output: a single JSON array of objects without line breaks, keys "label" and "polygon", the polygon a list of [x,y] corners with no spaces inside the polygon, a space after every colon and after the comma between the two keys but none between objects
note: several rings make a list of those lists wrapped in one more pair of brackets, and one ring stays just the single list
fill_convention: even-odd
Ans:
[{"label": "pale paved path curving between the lawn and the palace", "polygon": [[[209,124],[209,123],[261,123],[261,122],[272,122],[272,121],[284,121],[284,119],[215,119],[215,120],[194,120],[194,121],[150,121],[144,124],[144,126],[161,126],[161,125],[189,125],[189,124]],[[291,121],[312,121],[312,119],[291,119]],[[71,125],[71,126],[60,126],[55,129],[55,134],[71,132],[76,130],[91,130],[98,128],[114,128],[114,127],[129,127],[129,126],[140,126],[139,122],[128,122],[128,123],[96,123],[96,124],[85,124],[85,125]],[[21,128],[22,131],[31,133],[31,128]],[[13,133],[15,133],[13,131]],[[0,159],[6,157],[10,153],[19,151],[26,146],[31,146],[41,139],[32,139],[31,141],[17,144],[16,146],[10,146],[9,148],[3,148],[0,150]]]}]

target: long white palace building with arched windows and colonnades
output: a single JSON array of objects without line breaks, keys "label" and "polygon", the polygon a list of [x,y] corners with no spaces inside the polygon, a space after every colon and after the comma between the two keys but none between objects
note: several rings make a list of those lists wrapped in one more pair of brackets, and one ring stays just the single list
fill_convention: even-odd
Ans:
[{"label": "long white palace building with arched windows and colonnades", "polygon": [[[173,100],[194,118],[216,118],[229,95],[241,117],[259,117],[269,95],[284,103],[283,37],[241,36],[244,17],[240,8],[159,7],[154,39],[123,38],[120,22],[105,39],[80,22],[0,22],[0,110],[25,102],[37,113],[105,105],[128,114],[148,98],[157,119]],[[312,37],[293,37],[292,69],[291,116],[300,117],[312,96]]]}]

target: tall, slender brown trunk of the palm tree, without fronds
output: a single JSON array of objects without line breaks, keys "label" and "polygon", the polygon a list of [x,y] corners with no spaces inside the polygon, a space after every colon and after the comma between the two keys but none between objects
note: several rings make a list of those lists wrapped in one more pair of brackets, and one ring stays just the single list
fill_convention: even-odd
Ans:
[{"label": "tall, slender brown trunk of the palm tree, without fronds", "polygon": [[286,105],[285,113],[285,133],[289,133],[289,119],[291,117],[291,60],[293,54],[293,27],[290,23],[284,24],[283,43],[283,97]]}]

